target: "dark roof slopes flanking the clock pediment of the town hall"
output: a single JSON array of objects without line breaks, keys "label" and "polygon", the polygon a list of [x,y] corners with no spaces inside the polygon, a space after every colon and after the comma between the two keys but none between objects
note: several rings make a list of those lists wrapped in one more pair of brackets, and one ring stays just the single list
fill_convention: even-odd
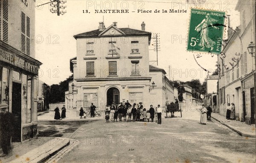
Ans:
[{"label": "dark roof slopes flanking the clock pediment of the town hall", "polygon": [[[120,31],[122,31],[125,35],[150,35],[149,38],[151,38],[151,33],[146,32],[146,31],[141,31],[137,29],[131,29],[131,28],[118,28]],[[89,31],[89,32],[84,32],[81,34],[76,34],[74,35],[74,38],[78,37],[99,37],[99,34],[102,33],[99,29]]]}]

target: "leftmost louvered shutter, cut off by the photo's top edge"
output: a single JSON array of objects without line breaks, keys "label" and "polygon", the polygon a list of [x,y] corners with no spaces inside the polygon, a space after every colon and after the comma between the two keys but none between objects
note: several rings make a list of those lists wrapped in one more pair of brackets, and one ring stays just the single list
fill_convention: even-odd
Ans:
[{"label": "leftmost louvered shutter, cut off by the photo's top edge", "polygon": [[3,0],[3,41],[8,42],[8,0]]}]

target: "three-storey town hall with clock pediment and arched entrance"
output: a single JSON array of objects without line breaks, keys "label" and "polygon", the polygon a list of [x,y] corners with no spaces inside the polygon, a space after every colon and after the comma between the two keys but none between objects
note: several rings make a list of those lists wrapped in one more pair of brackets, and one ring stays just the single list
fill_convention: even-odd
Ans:
[{"label": "three-storey town hall with clock pediment and arched entrance", "polygon": [[148,65],[151,33],[145,31],[144,22],[141,26],[141,30],[118,28],[114,22],[105,28],[99,22],[98,29],[74,36],[77,56],[70,59],[74,80],[65,93],[67,109],[79,114],[81,107],[88,109],[91,103],[105,110],[106,105],[127,100],[143,102],[145,108],[150,104],[165,108],[166,100],[174,98],[166,72]]}]

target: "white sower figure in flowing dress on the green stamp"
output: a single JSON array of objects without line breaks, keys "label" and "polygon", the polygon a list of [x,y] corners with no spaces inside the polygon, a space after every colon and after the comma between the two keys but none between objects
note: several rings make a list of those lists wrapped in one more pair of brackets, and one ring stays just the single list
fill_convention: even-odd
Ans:
[{"label": "white sower figure in flowing dress on the green stamp", "polygon": [[216,43],[209,38],[208,32],[209,32],[209,26],[212,26],[215,29],[219,29],[218,27],[213,25],[213,23],[215,22],[218,22],[218,20],[211,18],[210,14],[207,13],[205,15],[205,19],[202,20],[202,22],[195,27],[195,31],[200,32],[199,46],[202,47],[201,50],[204,50],[205,48],[211,48],[210,51],[213,50],[213,46]]}]

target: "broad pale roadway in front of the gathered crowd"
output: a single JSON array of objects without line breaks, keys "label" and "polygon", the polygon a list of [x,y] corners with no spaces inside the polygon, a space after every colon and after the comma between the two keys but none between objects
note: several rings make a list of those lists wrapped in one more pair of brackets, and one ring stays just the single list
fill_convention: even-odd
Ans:
[{"label": "broad pale roadway in front of the gathered crowd", "polygon": [[[175,115],[180,116],[180,113],[175,112]],[[183,110],[182,116],[182,118],[162,117],[162,124],[105,123],[103,117],[96,121],[93,118],[87,118],[84,124],[77,123],[80,127],[75,132],[63,135],[78,141],[78,146],[61,155],[61,159],[57,156],[51,161],[60,163],[255,162],[255,138],[241,137],[214,120],[207,121],[207,125],[202,125],[198,110]],[[54,125],[52,123],[52,126]],[[68,149],[69,146],[66,148]]]}]

